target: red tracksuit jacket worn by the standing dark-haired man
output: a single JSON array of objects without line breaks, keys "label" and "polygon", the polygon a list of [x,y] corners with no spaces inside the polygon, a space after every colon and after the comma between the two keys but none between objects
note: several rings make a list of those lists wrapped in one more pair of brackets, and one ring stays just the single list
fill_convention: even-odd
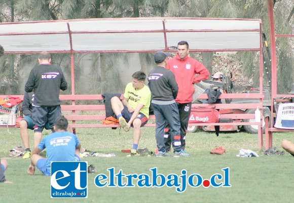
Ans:
[{"label": "red tracksuit jacket worn by the standing dark-haired man", "polygon": [[[188,55],[181,59],[178,54],[167,61],[166,69],[171,70],[178,85],[178,93],[175,101],[180,104],[190,103],[193,100],[194,86],[202,80],[209,78],[206,67]],[[195,76],[198,74],[197,76]]]}]

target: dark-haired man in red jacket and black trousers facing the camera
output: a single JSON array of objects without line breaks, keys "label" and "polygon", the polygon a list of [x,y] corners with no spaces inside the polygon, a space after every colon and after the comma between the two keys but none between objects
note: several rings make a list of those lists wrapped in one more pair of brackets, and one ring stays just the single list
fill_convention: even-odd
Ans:
[{"label": "dark-haired man in red jacket and black trousers facing the camera", "polygon": [[[177,43],[177,54],[174,58],[167,61],[166,69],[169,69],[174,74],[178,85],[178,93],[175,101],[180,117],[181,148],[185,150],[186,131],[195,91],[193,84],[207,80],[209,78],[209,72],[202,63],[189,57],[189,44],[186,41]],[[198,75],[196,76],[196,74]],[[168,124],[165,132],[165,148],[170,151],[171,139]]]}]

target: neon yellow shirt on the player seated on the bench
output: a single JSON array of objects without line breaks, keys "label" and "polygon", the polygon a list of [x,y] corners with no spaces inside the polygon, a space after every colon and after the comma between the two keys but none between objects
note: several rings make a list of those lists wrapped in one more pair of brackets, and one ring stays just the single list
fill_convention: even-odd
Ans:
[{"label": "neon yellow shirt on the player seated on the bench", "polygon": [[124,97],[129,99],[128,103],[134,109],[136,109],[138,104],[144,105],[144,107],[140,110],[140,113],[149,118],[151,91],[148,86],[144,85],[142,89],[137,91],[133,87],[132,83],[128,83],[125,89]]}]

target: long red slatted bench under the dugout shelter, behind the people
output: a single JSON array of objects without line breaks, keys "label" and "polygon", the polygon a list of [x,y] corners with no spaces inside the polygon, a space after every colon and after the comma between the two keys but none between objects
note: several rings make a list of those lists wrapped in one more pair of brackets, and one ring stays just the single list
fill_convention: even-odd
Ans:
[{"label": "long red slatted bench under the dugout shelter, behind the people", "polygon": [[[23,96],[20,96],[23,98]],[[258,102],[252,104],[193,104],[192,107],[198,106],[214,106],[216,109],[228,110],[232,113],[220,114],[220,118],[234,120],[234,125],[258,125],[258,146],[259,149],[263,147],[262,121],[261,122],[244,122],[244,119],[254,119],[255,115],[245,114],[240,109],[256,109],[259,108],[262,112],[262,97],[260,93],[239,93],[239,94],[222,94],[219,98],[242,98],[242,99],[256,99]],[[207,99],[206,94],[201,94],[200,99]],[[103,104],[103,97],[100,94],[79,94],[79,95],[60,95],[62,100],[61,110],[63,115],[69,121],[70,132],[75,132],[76,128],[100,128],[100,127],[120,127],[119,124],[102,124],[106,118],[105,106]],[[189,123],[189,125],[207,126],[207,125],[232,125],[232,122],[222,123]],[[1,126],[7,127],[7,126]],[[14,127],[14,126],[9,126]],[[144,127],[155,127],[155,116],[150,115],[148,123]]]}]

